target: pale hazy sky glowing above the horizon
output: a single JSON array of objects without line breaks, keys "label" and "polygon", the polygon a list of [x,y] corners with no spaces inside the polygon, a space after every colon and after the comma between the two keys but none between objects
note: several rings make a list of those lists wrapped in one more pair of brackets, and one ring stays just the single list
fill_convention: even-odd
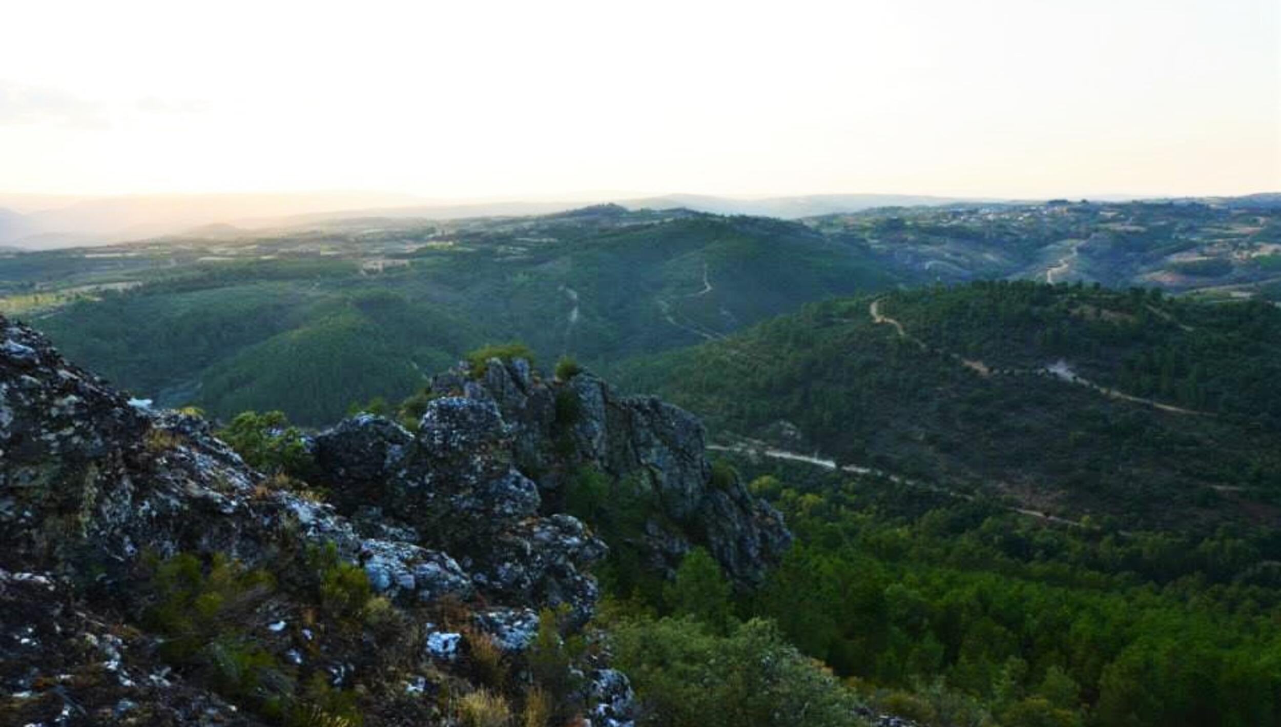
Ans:
[{"label": "pale hazy sky glowing above the horizon", "polygon": [[0,190],[1281,190],[1278,5],[5,0]]}]

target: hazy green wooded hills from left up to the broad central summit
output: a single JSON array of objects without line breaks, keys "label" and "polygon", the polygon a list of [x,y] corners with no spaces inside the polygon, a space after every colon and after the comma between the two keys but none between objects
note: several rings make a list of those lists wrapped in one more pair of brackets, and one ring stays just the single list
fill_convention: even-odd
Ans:
[{"label": "hazy green wooded hills from left up to the broad central summit", "polygon": [[[53,271],[67,255],[40,259]],[[70,355],[167,405],[275,408],[309,424],[404,396],[487,340],[596,363],[895,280],[866,246],[801,224],[614,206],[92,255],[82,292],[22,299]],[[18,263],[38,274],[33,258]]]}]

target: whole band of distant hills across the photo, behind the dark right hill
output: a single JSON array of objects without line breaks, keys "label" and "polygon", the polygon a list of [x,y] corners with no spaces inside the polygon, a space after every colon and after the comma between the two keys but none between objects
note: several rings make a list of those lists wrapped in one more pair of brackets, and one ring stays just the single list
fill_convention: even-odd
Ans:
[{"label": "whole band of distant hills across the photo, behind the dark right hill", "polygon": [[[600,205],[213,227],[0,251],[0,312],[36,322],[140,396],[224,417],[283,408],[320,423],[374,394],[402,396],[484,341],[519,338],[546,360],[601,367],[894,286],[1030,278],[1275,299],[1278,231],[1275,208],[1252,199],[888,208],[801,222]],[[1161,365],[1136,362],[1132,376],[1149,380],[1135,387],[1173,386],[1152,373]]]}]

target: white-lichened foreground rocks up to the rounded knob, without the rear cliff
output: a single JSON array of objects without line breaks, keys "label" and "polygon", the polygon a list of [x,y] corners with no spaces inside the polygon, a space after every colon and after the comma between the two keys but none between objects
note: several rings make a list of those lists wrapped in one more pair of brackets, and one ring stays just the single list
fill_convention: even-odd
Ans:
[{"label": "white-lichened foreground rocks up to the rounded knob, without the rear cliff", "polygon": [[[433,401],[416,435],[375,418],[345,422],[316,439],[316,453],[342,481],[348,518],[246,467],[204,421],[131,401],[0,318],[0,723],[257,724],[292,708],[263,691],[295,682],[315,699],[354,695],[365,724],[447,722],[450,695],[474,677],[466,662],[478,639],[519,653],[538,609],[564,604],[582,623],[597,599],[585,567],[605,545],[569,515],[539,514],[511,437],[484,397]],[[325,547],[357,564],[383,605],[343,601],[359,582],[337,565],[322,565],[316,581],[311,563]],[[274,585],[192,608],[234,617],[219,627],[234,627],[237,648],[252,649],[245,663],[270,677],[242,694],[261,709],[213,691],[228,692],[225,672],[167,665],[167,650],[201,635],[129,626],[164,597],[146,563],[179,554],[206,564],[223,554]],[[626,723],[625,677],[587,659],[578,668],[594,680],[578,709]]]}]

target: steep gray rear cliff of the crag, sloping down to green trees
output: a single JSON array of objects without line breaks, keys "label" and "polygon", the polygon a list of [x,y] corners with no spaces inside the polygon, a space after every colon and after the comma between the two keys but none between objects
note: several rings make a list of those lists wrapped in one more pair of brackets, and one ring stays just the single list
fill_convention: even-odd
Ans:
[{"label": "steep gray rear cliff of the crag, sloping down to green trees", "polygon": [[[455,391],[465,372],[438,377]],[[760,582],[792,540],[783,517],[739,481],[712,483],[706,431],[688,412],[651,396],[620,396],[600,378],[537,381],[528,365],[494,359],[466,396],[489,403],[509,431],[510,459],[555,503],[578,468],[634,478],[662,518],[646,524],[647,562],[671,571],[694,545],[706,546],[739,583]],[[547,509],[547,508],[544,508]]]}]

